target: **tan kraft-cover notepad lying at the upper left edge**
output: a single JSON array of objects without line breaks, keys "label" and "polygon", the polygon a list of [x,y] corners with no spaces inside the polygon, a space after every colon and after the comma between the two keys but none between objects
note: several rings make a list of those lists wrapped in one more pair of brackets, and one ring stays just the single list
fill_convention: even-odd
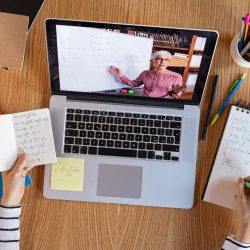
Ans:
[{"label": "tan kraft-cover notepad lying at the upper left edge", "polygon": [[0,12],[0,67],[22,69],[29,17]]}]

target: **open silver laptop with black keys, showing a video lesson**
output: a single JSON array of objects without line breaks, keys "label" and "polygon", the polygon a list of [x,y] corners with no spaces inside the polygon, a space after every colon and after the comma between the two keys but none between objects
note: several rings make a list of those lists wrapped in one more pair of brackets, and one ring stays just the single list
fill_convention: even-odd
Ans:
[{"label": "open silver laptop with black keys, showing a video lesson", "polygon": [[58,157],[84,159],[83,191],[48,199],[191,208],[200,103],[218,32],[47,19]]}]

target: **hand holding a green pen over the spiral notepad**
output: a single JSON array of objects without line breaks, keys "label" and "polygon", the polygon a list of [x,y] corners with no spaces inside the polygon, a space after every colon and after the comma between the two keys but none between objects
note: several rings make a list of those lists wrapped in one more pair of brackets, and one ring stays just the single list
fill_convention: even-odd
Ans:
[{"label": "hand holding a green pen over the spiral notepad", "polygon": [[239,215],[239,226],[235,234],[235,239],[250,243],[250,198],[247,197],[244,191],[244,180],[250,182],[250,176],[239,178],[236,187],[236,204]]}]

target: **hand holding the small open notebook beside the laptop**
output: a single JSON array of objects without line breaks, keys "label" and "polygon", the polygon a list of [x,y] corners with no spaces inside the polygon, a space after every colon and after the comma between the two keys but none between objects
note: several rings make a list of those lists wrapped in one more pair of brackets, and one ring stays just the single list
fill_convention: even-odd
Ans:
[{"label": "hand holding the small open notebook beside the laptop", "polygon": [[20,204],[24,194],[25,176],[29,170],[27,155],[20,154],[14,167],[10,171],[2,172],[2,205],[15,206]]}]

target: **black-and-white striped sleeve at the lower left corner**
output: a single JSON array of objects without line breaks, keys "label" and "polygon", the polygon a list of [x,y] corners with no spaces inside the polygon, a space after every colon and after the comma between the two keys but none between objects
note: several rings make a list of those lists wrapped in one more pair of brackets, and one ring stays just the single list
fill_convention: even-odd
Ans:
[{"label": "black-and-white striped sleeve at the lower left corner", "polygon": [[21,205],[0,205],[0,250],[18,250]]}]

